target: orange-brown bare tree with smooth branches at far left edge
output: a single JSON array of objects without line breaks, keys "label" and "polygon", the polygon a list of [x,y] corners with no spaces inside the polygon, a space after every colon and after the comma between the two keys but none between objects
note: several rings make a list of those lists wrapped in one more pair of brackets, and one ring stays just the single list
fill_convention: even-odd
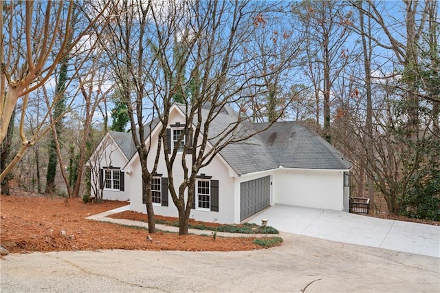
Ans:
[{"label": "orange-brown bare tree with smooth branches at far left edge", "polygon": [[19,127],[21,149],[1,173],[0,180],[3,180],[25,151],[41,137],[36,135],[28,140],[25,135],[23,118],[30,93],[47,83],[58,63],[87,35],[91,25],[102,19],[101,11],[83,30],[74,35],[72,45],[68,46],[72,33],[70,21],[73,7],[74,1],[67,4],[63,1],[10,1],[1,6],[0,24],[3,30],[0,32],[0,142],[5,138],[12,111],[21,97],[23,105]]}]

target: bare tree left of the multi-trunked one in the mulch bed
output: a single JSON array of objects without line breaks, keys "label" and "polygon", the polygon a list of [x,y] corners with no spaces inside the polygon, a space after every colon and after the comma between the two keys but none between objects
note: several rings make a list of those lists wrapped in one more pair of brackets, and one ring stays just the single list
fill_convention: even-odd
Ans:
[{"label": "bare tree left of the multi-trunked one in the mulch bed", "polygon": [[[153,107],[157,94],[153,91],[157,83],[155,67],[157,66],[157,42],[170,42],[175,36],[179,18],[183,11],[179,6],[184,3],[169,1],[110,1],[116,11],[106,28],[96,27],[96,32],[104,32],[99,39],[100,45],[109,56],[113,71],[113,80],[118,88],[121,102],[126,103],[131,125],[133,142],[137,149],[142,166],[142,197],[148,213],[148,231],[155,232],[153,203],[151,200],[151,179],[157,170],[161,144],[158,149],[151,149],[146,139],[155,124],[152,121],[159,113],[160,107]],[[157,11],[153,11],[153,7]],[[153,34],[149,25],[154,21],[164,21],[162,32]],[[154,156],[153,166],[148,166],[148,158]]]}]

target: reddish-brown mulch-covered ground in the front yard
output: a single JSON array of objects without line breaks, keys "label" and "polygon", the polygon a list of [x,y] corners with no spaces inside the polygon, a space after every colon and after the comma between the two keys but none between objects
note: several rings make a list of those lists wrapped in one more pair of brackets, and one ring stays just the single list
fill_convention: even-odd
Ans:
[{"label": "reddish-brown mulch-covered ground in the front yard", "polygon": [[9,252],[61,250],[186,250],[238,251],[261,249],[254,238],[213,239],[210,235],[157,232],[85,219],[89,215],[125,206],[126,202],[84,204],[82,199],[42,197],[13,191],[0,196],[0,243]]}]

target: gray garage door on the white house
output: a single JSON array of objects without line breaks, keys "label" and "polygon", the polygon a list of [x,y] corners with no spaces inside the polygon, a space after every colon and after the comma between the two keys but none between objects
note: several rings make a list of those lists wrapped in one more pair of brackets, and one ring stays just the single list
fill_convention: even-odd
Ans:
[{"label": "gray garage door on the white house", "polygon": [[240,221],[269,206],[270,176],[242,182],[240,199]]}]

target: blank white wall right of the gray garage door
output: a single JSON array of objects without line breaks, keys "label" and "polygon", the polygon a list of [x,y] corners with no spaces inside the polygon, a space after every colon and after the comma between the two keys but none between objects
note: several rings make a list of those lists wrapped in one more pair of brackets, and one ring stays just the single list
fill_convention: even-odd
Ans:
[{"label": "blank white wall right of the gray garage door", "polygon": [[278,169],[274,176],[274,203],[344,210],[343,172]]}]

